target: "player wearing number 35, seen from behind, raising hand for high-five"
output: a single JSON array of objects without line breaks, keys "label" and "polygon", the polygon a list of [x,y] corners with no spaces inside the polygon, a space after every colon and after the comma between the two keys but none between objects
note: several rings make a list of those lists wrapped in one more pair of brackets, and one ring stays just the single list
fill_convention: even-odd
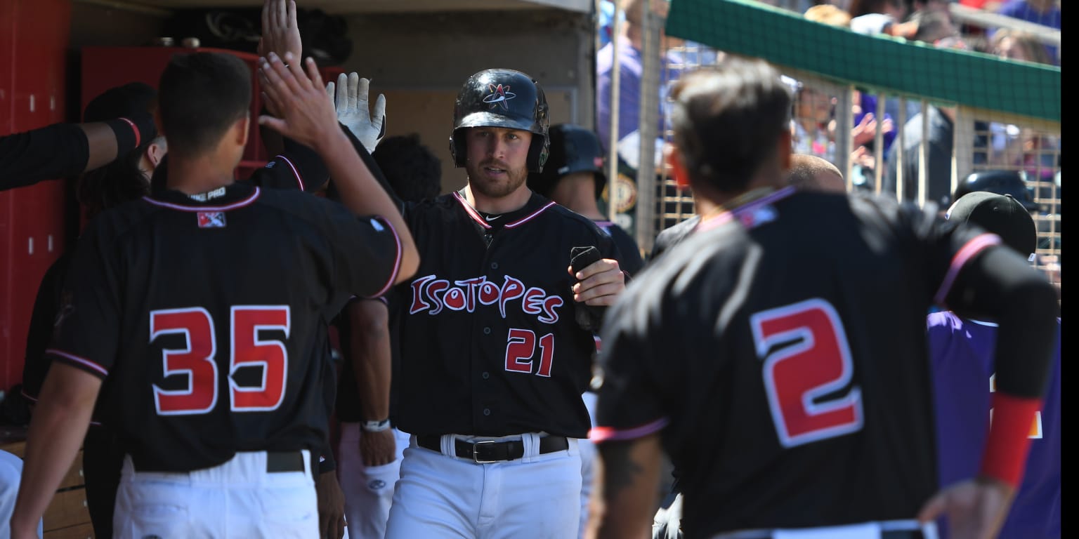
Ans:
[{"label": "player wearing number 35, seen from behind, raising hand for high-five", "polygon": [[[325,358],[326,324],[350,293],[383,293],[418,257],[338,128],[314,61],[284,61],[260,63],[283,114],[260,121],[318,151],[347,209],[234,182],[250,72],[223,53],[174,56],[159,88],[169,190],[103,213],[79,240],[14,537],[32,537],[106,377],[126,454],[117,534],[317,537],[312,465],[331,365],[312,358]],[[139,279],[151,268],[160,286]]]}]

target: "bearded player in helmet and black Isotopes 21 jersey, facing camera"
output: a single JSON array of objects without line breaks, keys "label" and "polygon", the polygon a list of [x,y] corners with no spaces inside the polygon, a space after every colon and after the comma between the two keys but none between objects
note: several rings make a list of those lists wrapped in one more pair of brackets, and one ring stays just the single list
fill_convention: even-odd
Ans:
[{"label": "bearded player in helmet and black Isotopes 21 jersey, facing camera", "polygon": [[592,332],[625,277],[609,235],[529,190],[547,129],[531,77],[473,74],[450,142],[467,183],[405,206],[422,262],[396,290],[412,437],[388,538],[577,536]]}]

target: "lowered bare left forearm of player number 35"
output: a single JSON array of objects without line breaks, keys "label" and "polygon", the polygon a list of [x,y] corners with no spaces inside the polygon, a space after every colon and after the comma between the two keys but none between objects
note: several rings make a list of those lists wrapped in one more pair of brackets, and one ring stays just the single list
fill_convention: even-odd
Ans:
[{"label": "lowered bare left forearm of player number 35", "polygon": [[36,537],[38,522],[86,436],[100,384],[66,364],[50,369],[26,441],[23,479],[11,519],[13,537]]}]

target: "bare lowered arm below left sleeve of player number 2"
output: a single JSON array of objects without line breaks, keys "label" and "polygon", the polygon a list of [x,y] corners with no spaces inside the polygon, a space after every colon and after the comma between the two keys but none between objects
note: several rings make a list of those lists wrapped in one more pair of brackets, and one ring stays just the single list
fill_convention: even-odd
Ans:
[{"label": "bare lowered arm below left sleeve of player number 2", "polygon": [[[659,484],[659,436],[598,445],[600,522],[598,539],[651,537]],[[595,501],[593,501],[595,505]]]}]

